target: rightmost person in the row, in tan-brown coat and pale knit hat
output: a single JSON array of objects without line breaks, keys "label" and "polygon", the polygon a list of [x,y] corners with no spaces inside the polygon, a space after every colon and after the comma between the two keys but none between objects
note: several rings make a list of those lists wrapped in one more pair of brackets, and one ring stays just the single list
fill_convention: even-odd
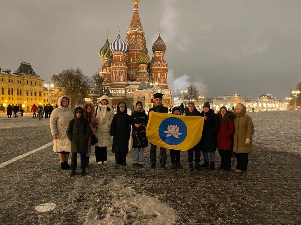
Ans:
[{"label": "rightmost person in the row, in tan-brown coat and pale knit hat", "polygon": [[233,151],[236,152],[237,166],[234,168],[236,173],[247,171],[249,153],[253,152],[252,137],[254,134],[254,125],[250,116],[246,115],[247,108],[238,103],[235,107],[233,134]]}]

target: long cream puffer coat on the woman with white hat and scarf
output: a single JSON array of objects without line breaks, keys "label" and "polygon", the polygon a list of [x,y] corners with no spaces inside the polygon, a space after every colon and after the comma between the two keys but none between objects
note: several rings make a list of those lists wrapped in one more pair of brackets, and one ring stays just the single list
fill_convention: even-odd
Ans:
[{"label": "long cream puffer coat on the woman with white hat and scarf", "polygon": [[[109,107],[110,107],[110,111],[106,112],[103,124],[101,124],[101,119],[100,119],[100,115],[101,115],[100,108],[101,107],[98,107],[98,109],[97,109],[96,118],[98,120],[98,128],[94,134],[98,140],[98,143],[96,143],[95,146],[107,147],[107,146],[110,146],[112,143],[112,139],[110,136],[110,129],[111,129],[111,123],[112,123],[112,120],[114,117],[114,110],[111,106],[109,106]],[[96,113],[96,108],[97,107],[95,107],[94,115]],[[104,108],[101,108],[101,110],[104,110]],[[106,110],[106,108],[105,108],[105,110]]]}]

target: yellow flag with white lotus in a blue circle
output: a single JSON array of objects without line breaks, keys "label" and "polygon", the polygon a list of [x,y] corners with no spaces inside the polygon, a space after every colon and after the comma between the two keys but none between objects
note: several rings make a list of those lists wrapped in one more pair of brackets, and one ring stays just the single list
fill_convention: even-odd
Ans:
[{"label": "yellow flag with white lotus in a blue circle", "polygon": [[154,145],[188,151],[199,143],[203,125],[202,116],[179,116],[151,111],[146,137]]}]

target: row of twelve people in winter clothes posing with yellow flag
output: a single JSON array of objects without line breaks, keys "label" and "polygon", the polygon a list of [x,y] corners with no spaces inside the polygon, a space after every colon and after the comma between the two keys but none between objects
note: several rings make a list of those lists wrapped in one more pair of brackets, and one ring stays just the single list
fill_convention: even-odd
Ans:
[{"label": "row of twelve people in winter clothes posing with yellow flag", "polygon": [[[82,175],[86,174],[91,154],[91,137],[96,137],[95,159],[97,164],[107,164],[107,147],[111,145],[113,136],[112,152],[115,153],[115,163],[126,166],[126,158],[129,153],[129,137],[133,140],[132,164],[135,167],[144,167],[144,148],[148,146],[146,137],[147,123],[151,111],[157,113],[169,113],[169,109],[162,104],[163,94],[154,94],[154,106],[148,114],[143,109],[143,103],[137,101],[134,111],[129,116],[127,106],[120,102],[116,107],[116,114],[109,104],[109,99],[103,95],[98,106],[85,103],[83,108],[77,107],[73,111],[70,107],[71,99],[62,96],[58,100],[58,107],[53,110],[50,119],[51,133],[54,139],[53,150],[58,153],[61,169],[71,168],[71,176],[76,174],[77,153],[80,153]],[[182,115],[180,107],[174,107],[172,114]],[[234,112],[221,107],[216,114],[210,109],[209,102],[203,105],[203,111],[199,112],[193,102],[189,102],[185,110],[185,116],[203,116],[204,125],[202,137],[199,143],[188,150],[188,162],[190,170],[203,168],[215,168],[215,152],[219,151],[221,157],[221,170],[229,171],[231,167],[231,153],[236,153],[237,166],[235,172],[247,171],[248,155],[253,151],[252,136],[254,126],[252,119],[246,115],[246,107],[237,104]],[[94,139],[93,139],[94,140]],[[166,168],[166,149],[160,147],[160,166]],[[68,157],[72,153],[71,166]],[[151,143],[150,162],[151,168],[156,167],[157,146]],[[201,152],[203,163],[201,161]],[[170,150],[172,169],[183,168],[180,164],[180,151]],[[195,164],[193,165],[193,161]]]}]

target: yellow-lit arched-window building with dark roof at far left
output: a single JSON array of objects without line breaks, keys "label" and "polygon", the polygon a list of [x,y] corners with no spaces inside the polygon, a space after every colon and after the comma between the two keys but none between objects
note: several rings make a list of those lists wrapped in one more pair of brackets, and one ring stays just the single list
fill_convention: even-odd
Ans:
[{"label": "yellow-lit arched-window building with dark roof at far left", "polygon": [[47,104],[48,90],[43,82],[27,62],[22,61],[16,71],[0,68],[0,111],[6,111],[8,104],[17,104],[24,111],[30,111],[33,103]]}]

